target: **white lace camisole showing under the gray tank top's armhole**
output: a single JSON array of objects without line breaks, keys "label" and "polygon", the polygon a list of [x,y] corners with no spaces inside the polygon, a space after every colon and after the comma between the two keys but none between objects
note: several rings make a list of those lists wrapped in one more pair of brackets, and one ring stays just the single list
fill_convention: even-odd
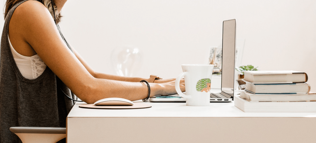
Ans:
[{"label": "white lace camisole showing under the gray tank top's armhole", "polygon": [[[9,35],[8,35],[9,39]],[[46,69],[46,64],[40,58],[38,54],[33,56],[23,56],[15,51],[13,48],[10,39],[9,39],[10,49],[13,54],[13,58],[17,67],[19,68],[23,77],[27,79],[35,79],[39,77]]]}]

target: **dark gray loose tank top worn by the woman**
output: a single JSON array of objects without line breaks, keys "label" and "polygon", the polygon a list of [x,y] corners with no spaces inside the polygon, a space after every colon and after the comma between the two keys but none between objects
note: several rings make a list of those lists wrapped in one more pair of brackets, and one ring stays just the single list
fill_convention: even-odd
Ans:
[{"label": "dark gray loose tank top worn by the woman", "polygon": [[[4,22],[0,52],[0,143],[21,142],[9,128],[66,127],[66,117],[75,98],[70,89],[46,67],[40,77],[26,79],[15,64],[8,41],[9,21],[17,6],[7,14]],[[64,39],[57,25],[61,37]],[[70,48],[67,41],[64,42]],[[70,48],[71,50],[71,48]]]}]

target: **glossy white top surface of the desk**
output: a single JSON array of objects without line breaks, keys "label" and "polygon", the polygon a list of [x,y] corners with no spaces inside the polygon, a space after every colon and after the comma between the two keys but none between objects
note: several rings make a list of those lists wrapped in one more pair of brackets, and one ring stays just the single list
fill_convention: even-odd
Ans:
[{"label": "glossy white top surface of the desk", "polygon": [[[141,100],[135,102],[143,102]],[[153,103],[145,109],[86,109],[77,102],[71,117],[316,117],[316,113],[249,113],[229,103],[210,103],[210,106],[186,106],[185,103]]]}]

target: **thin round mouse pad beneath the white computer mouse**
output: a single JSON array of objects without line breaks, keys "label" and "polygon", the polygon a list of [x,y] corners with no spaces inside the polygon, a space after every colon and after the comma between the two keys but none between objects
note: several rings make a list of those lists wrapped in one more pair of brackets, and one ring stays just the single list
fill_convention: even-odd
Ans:
[{"label": "thin round mouse pad beneath the white computer mouse", "polygon": [[94,104],[83,104],[79,105],[81,108],[91,108],[91,109],[141,109],[141,108],[150,108],[151,105],[147,103],[134,103],[131,106],[96,106]]}]

